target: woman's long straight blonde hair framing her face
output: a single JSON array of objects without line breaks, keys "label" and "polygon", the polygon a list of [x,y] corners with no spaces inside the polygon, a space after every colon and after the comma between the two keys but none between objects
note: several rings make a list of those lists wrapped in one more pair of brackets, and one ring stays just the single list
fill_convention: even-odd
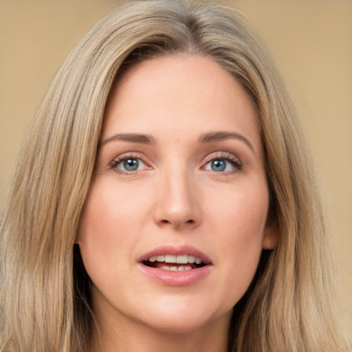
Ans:
[{"label": "woman's long straight blonde hair framing her face", "polygon": [[228,350],[347,351],[318,182],[272,59],[235,10],[173,0],[135,1],[102,19],[47,91],[1,224],[2,351],[86,351],[90,281],[74,241],[107,96],[122,70],[176,52],[211,58],[247,91],[265,148],[270,221],[281,234],[234,308]]}]

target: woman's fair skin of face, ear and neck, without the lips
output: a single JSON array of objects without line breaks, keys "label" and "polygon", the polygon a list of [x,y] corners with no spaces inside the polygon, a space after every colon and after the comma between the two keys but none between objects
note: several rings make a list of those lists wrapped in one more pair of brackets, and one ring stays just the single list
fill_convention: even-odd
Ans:
[{"label": "woman's fair skin of face, ear and neck, without the lips", "polygon": [[[236,135],[199,141],[218,132]],[[126,171],[124,157],[139,168]],[[77,239],[93,282],[91,351],[225,351],[232,307],[278,241],[268,202],[254,111],[228,72],[190,54],[129,69],[111,90]],[[197,248],[208,274],[186,286],[153,281],[138,260],[160,245]]]}]

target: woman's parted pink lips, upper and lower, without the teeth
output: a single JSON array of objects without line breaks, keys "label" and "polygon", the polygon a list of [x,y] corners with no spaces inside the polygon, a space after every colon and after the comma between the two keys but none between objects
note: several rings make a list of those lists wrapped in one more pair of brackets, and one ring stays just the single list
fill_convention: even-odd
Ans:
[{"label": "woman's parted pink lips, upper and lower, without the teeth", "polygon": [[[179,272],[173,272],[162,269],[155,269],[154,267],[148,267],[144,265],[142,262],[147,261],[151,256],[161,256],[164,254],[170,255],[182,255],[188,254],[191,256],[197,256],[203,261],[206,265],[203,267],[198,267],[192,270],[181,270]],[[208,275],[210,270],[212,270],[212,263],[206,254],[203,254],[199,250],[189,246],[182,245],[179,247],[174,247],[173,245],[164,245],[159,248],[155,248],[151,252],[143,254],[139,261],[138,265],[142,272],[151,278],[153,281],[160,283],[166,286],[189,286],[197,281],[201,280],[204,276]]]}]

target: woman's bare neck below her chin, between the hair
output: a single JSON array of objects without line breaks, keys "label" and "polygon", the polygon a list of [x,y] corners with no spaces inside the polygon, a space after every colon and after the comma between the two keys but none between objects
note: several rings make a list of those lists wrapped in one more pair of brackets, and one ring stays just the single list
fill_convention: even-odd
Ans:
[{"label": "woman's bare neck below her chin, between the hair", "polygon": [[226,352],[230,312],[193,331],[160,331],[142,322],[96,318],[91,352]]}]

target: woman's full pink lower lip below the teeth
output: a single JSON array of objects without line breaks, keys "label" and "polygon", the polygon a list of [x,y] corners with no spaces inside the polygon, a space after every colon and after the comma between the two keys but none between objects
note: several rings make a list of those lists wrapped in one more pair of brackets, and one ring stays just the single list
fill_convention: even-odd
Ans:
[{"label": "woman's full pink lower lip below the teeth", "polygon": [[171,270],[155,269],[155,267],[148,267],[140,263],[140,268],[148,278],[151,278],[157,283],[166,286],[190,286],[197,281],[207,276],[210,272],[212,265],[197,267],[191,270],[180,270],[173,272]]}]

